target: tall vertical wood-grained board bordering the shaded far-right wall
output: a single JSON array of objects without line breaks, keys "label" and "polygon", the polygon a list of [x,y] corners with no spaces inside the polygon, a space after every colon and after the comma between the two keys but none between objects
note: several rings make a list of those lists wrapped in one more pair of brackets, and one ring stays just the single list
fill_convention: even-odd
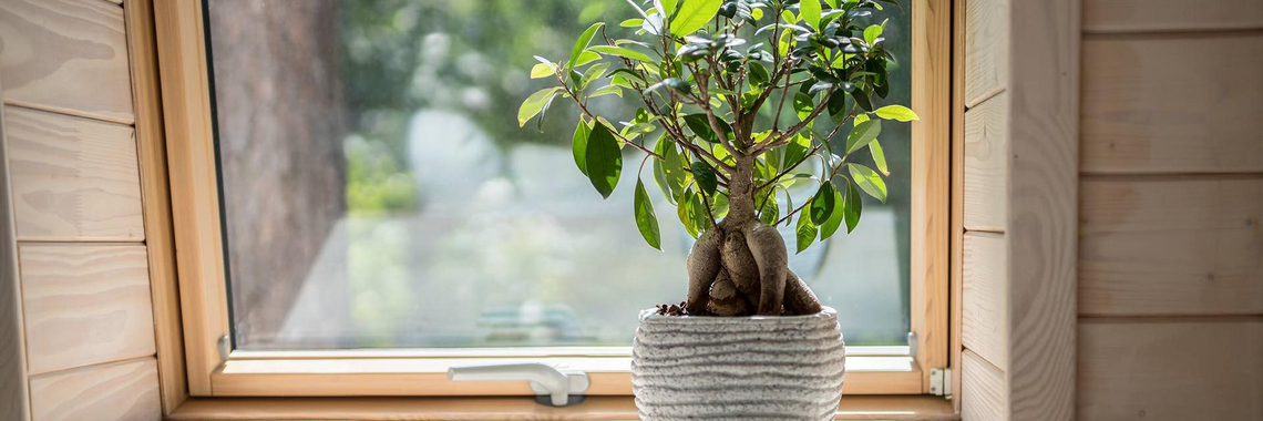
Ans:
[{"label": "tall vertical wood-grained board bordering the shaded far-right wall", "polygon": [[1079,0],[1012,5],[1009,417],[1075,417]]}]

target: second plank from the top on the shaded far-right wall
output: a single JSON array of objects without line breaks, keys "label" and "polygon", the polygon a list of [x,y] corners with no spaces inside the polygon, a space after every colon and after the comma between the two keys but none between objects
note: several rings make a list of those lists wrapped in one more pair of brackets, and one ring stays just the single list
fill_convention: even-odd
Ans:
[{"label": "second plank from the top on the shaded far-right wall", "polygon": [[1263,33],[1085,39],[1082,171],[1263,172],[1259,75]]}]

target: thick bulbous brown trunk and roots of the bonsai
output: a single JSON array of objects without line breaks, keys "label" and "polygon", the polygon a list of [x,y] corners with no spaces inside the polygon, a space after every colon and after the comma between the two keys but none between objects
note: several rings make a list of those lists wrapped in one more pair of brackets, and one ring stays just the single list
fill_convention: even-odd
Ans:
[{"label": "thick bulbous brown trunk and roots of the bonsai", "polygon": [[688,253],[688,312],[716,316],[816,314],[820,301],[788,267],[784,239],[754,209],[754,161],[739,158],[727,216]]}]

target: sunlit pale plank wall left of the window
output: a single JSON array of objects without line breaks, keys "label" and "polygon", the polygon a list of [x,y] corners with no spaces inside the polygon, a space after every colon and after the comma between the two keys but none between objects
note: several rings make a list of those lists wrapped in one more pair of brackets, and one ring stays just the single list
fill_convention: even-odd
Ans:
[{"label": "sunlit pale plank wall left of the window", "polygon": [[0,158],[33,420],[162,417],[125,28],[119,1],[0,0]]}]

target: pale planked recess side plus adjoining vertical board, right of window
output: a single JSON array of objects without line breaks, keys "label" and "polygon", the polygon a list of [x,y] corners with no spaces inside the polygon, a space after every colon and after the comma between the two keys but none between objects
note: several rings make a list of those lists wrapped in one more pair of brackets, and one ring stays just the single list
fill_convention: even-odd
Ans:
[{"label": "pale planked recess side plus adjoining vertical board, right of window", "polygon": [[961,416],[1074,420],[1080,3],[964,20]]}]

